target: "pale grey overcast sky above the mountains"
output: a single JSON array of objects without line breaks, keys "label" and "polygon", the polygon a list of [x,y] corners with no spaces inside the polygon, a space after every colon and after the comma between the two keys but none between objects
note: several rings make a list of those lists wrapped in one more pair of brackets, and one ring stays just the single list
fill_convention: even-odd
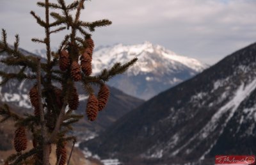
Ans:
[{"label": "pale grey overcast sky above the mountains", "polygon": [[[28,51],[42,49],[31,38],[44,36],[31,10],[44,16],[35,0],[0,0],[0,28],[9,42],[18,33],[20,47]],[[148,41],[208,64],[256,42],[255,0],[92,0],[81,19],[113,22],[93,33],[97,46]],[[53,35],[52,46],[63,36]]]}]

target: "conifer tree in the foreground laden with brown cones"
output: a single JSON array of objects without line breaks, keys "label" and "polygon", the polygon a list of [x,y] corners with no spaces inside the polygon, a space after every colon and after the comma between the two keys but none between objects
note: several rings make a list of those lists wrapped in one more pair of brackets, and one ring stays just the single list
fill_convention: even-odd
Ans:
[{"label": "conifer tree in the foreground laden with brown cones", "polygon": [[[68,141],[76,141],[76,137],[68,136],[72,130],[72,124],[77,122],[83,115],[77,115],[74,111],[79,104],[79,96],[75,82],[83,83],[84,92],[90,96],[86,105],[88,120],[95,120],[99,110],[106,106],[109,91],[105,83],[113,76],[122,74],[137,58],[122,65],[116,63],[110,69],[104,68],[99,75],[92,74],[92,60],[94,42],[91,33],[95,28],[109,26],[111,21],[103,19],[95,22],[84,22],[79,19],[81,10],[84,9],[85,0],[74,1],[66,4],[65,0],[56,3],[38,2],[38,6],[45,9],[45,19],[40,18],[35,12],[31,15],[37,23],[45,29],[45,38],[33,38],[33,42],[45,44],[47,61],[40,58],[23,54],[19,51],[19,35],[16,35],[15,43],[10,46],[7,42],[6,31],[2,30],[0,50],[7,52],[8,57],[1,58],[1,63],[9,67],[20,67],[17,73],[0,71],[3,78],[1,86],[17,79],[18,81],[33,81],[29,98],[34,108],[34,113],[19,115],[10,111],[7,104],[0,108],[0,114],[4,117],[1,122],[8,119],[15,121],[15,149],[17,153],[10,155],[5,164],[49,164],[51,145],[57,145],[57,155],[61,164],[67,160],[65,144]],[[52,10],[53,12],[50,12]],[[55,10],[61,13],[54,12]],[[72,15],[72,12],[75,14]],[[50,22],[49,17],[54,19]],[[57,52],[51,51],[51,35],[67,30]],[[77,35],[77,33],[79,33]],[[81,61],[81,62],[80,62]],[[57,86],[54,84],[58,84]],[[98,98],[95,97],[92,85],[97,84],[100,88]],[[99,100],[98,100],[99,99]],[[84,106],[85,107],[85,106]],[[67,110],[66,110],[67,109]],[[26,150],[26,132],[33,135],[33,148]],[[62,158],[61,158],[61,154]],[[40,156],[42,155],[42,156]]]}]

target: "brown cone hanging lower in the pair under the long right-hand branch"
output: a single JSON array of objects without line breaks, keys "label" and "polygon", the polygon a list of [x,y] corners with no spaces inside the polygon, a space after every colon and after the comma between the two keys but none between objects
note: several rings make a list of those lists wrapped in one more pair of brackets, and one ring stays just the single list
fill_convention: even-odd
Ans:
[{"label": "brown cone hanging lower in the pair under the long right-hand branch", "polygon": [[98,100],[95,95],[90,95],[86,105],[87,118],[90,121],[94,121],[97,118],[99,111]]}]

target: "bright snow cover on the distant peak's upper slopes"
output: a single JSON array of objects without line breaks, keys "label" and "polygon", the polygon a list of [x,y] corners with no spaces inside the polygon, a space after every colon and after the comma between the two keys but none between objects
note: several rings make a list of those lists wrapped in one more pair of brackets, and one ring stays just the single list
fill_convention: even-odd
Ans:
[{"label": "bright snow cover on the distant peak's upper slopes", "polygon": [[114,63],[126,63],[132,58],[139,59],[136,65],[128,71],[132,75],[138,75],[140,72],[154,72],[159,67],[166,69],[166,72],[173,72],[182,65],[196,72],[201,72],[207,68],[207,65],[196,59],[179,56],[150,42],[138,45],[120,43],[113,47],[102,47],[93,52],[93,74],[98,74],[102,68],[109,68]]}]

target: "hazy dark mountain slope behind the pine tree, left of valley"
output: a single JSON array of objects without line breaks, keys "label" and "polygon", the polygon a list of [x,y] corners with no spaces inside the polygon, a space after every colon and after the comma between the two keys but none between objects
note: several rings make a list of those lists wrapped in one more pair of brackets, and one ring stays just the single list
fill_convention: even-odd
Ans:
[{"label": "hazy dark mountain slope behind the pine tree, left of valley", "polygon": [[[31,52],[25,51],[24,49],[20,49],[20,51],[22,51],[24,54],[31,54]],[[0,54],[0,59],[6,56],[7,54],[2,52]],[[20,70],[19,67],[6,67],[1,63],[0,67],[1,70],[5,70],[6,72],[10,73],[17,73]],[[13,106],[26,109],[26,111],[31,111],[28,93],[34,83],[35,82],[33,81],[19,82],[14,80],[9,81],[4,86],[0,86],[1,102],[7,102]],[[86,118],[84,118],[77,123],[76,127],[77,129],[81,130],[81,132],[84,132],[85,128],[86,130],[90,130],[90,132],[99,132],[100,130],[104,130],[122,115],[128,113],[136,106],[144,102],[143,100],[131,97],[122,91],[117,90],[116,88],[109,87],[109,90],[111,95],[109,97],[108,104],[104,111],[99,113],[97,122],[89,122]],[[79,99],[81,100],[77,113],[85,114],[86,100],[88,97],[84,92],[82,85],[79,83],[77,83],[77,92],[79,93]]]}]

